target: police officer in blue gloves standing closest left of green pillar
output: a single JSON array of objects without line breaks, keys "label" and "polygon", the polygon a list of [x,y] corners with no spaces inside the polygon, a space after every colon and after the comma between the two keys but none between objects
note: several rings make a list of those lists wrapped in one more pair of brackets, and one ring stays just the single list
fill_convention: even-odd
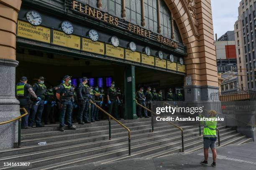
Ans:
[{"label": "police officer in blue gloves standing closest left of green pillar", "polygon": [[119,97],[117,95],[117,91],[115,89],[115,82],[111,82],[111,87],[108,88],[107,91],[107,100],[108,100],[108,112],[115,117],[118,118],[118,104],[120,103]]}]

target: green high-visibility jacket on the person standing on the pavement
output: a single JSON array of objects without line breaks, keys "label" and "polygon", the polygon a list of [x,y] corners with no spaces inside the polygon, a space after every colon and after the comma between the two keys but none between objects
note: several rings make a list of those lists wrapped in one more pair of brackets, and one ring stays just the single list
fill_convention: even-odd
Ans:
[{"label": "green high-visibility jacket on the person standing on the pavement", "polygon": [[[202,116],[200,116],[202,117]],[[217,121],[201,121],[204,125],[204,138],[216,138]]]}]

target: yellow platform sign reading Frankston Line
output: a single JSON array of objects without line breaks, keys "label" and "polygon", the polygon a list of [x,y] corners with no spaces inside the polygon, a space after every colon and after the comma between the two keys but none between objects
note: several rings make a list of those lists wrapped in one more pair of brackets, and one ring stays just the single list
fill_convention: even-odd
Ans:
[{"label": "yellow platform sign reading Frankston Line", "polygon": [[80,37],[76,35],[67,35],[61,31],[54,30],[53,43],[80,50]]}]

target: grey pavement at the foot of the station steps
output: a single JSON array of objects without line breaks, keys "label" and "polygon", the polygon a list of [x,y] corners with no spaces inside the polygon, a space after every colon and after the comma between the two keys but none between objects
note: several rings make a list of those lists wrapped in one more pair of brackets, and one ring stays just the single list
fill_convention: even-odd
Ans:
[{"label": "grey pavement at the foot of the station steps", "polygon": [[198,150],[188,154],[176,153],[147,160],[135,158],[98,166],[90,163],[63,170],[256,170],[256,142],[217,148],[216,168],[210,165],[211,154],[208,158],[208,166],[200,164],[204,159],[202,152]]}]

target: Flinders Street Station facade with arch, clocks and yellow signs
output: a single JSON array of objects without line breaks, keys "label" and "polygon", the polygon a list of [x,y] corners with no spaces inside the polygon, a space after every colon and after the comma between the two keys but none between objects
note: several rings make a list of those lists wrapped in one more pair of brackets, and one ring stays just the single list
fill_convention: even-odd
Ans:
[{"label": "Flinders Street Station facade with arch, clocks and yellow signs", "polygon": [[[72,75],[125,92],[136,119],[138,87],[182,90],[185,102],[218,92],[210,0],[0,0],[0,122],[18,117],[15,83]],[[17,123],[1,128],[12,148]]]}]

